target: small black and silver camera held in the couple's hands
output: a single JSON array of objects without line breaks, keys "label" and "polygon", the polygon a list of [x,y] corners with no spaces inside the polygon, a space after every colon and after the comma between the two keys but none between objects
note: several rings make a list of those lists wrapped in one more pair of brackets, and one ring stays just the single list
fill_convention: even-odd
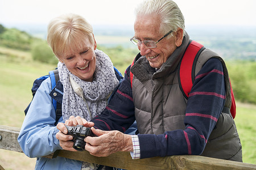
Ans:
[{"label": "small black and silver camera held in the couple's hands", "polygon": [[85,150],[85,142],[84,138],[90,136],[90,137],[96,137],[96,135],[90,130],[90,128],[86,128],[82,125],[77,126],[67,126],[68,129],[68,135],[73,136],[74,145],[73,148],[75,148],[77,151],[84,151]]}]

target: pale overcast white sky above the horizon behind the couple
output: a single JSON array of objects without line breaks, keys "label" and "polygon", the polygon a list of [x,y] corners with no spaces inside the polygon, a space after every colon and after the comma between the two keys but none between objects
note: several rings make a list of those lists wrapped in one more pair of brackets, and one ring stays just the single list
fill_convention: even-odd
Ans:
[{"label": "pale overcast white sky above the horizon behind the couple", "polygon": [[[91,24],[133,24],[142,0],[0,0],[0,24],[48,24],[65,13],[84,16]],[[254,25],[254,0],[176,0],[186,25]]]}]

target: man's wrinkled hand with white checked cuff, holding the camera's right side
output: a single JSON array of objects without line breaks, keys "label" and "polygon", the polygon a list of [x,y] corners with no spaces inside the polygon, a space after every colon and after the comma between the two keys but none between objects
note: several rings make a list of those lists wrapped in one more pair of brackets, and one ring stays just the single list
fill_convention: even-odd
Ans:
[{"label": "man's wrinkled hand with white checked cuff, holding the camera's right side", "polygon": [[94,156],[109,156],[118,151],[133,151],[131,136],[120,131],[103,131],[92,128],[98,137],[86,137],[85,150]]}]

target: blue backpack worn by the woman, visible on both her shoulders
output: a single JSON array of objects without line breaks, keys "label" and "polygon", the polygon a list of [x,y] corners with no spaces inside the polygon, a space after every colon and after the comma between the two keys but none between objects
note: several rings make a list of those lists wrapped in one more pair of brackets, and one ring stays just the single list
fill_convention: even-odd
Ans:
[{"label": "blue backpack worn by the woman, visible on both her shoulders", "polygon": [[[114,91],[112,92],[112,94],[109,96],[108,101],[110,101],[110,99],[112,99],[112,96],[115,94],[115,92],[117,91],[117,88],[119,87],[121,80],[123,79],[122,74],[114,67],[114,72],[115,72],[115,76],[117,76],[117,79],[119,80],[119,84],[117,87],[115,87]],[[59,71],[57,70],[57,68],[55,70],[51,70],[49,71],[48,75],[44,75],[41,76],[40,78],[35,79],[33,86],[31,88],[32,91],[32,100],[35,96],[36,91],[38,90],[39,86],[42,84],[42,82],[47,79],[48,77],[50,77],[51,79],[51,90],[53,90],[53,88],[56,86],[57,82],[59,81],[60,77],[59,77]],[[31,100],[31,101],[32,101]],[[30,102],[31,104],[31,102]],[[27,114],[28,108],[30,108],[30,104],[28,104],[27,108],[25,109],[25,115]],[[62,106],[59,102],[57,102],[55,99],[52,99],[52,105],[55,109],[55,113],[56,113],[56,121],[55,121],[55,125],[57,124],[57,122],[59,121],[60,117],[62,116]]]}]

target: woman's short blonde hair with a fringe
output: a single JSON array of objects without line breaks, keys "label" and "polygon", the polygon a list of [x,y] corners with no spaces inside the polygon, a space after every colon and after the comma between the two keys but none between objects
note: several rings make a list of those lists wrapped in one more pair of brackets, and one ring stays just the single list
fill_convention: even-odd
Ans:
[{"label": "woman's short blonde hair with a fringe", "polygon": [[56,57],[80,48],[85,39],[94,44],[92,25],[80,15],[61,15],[48,24],[47,42]]}]

